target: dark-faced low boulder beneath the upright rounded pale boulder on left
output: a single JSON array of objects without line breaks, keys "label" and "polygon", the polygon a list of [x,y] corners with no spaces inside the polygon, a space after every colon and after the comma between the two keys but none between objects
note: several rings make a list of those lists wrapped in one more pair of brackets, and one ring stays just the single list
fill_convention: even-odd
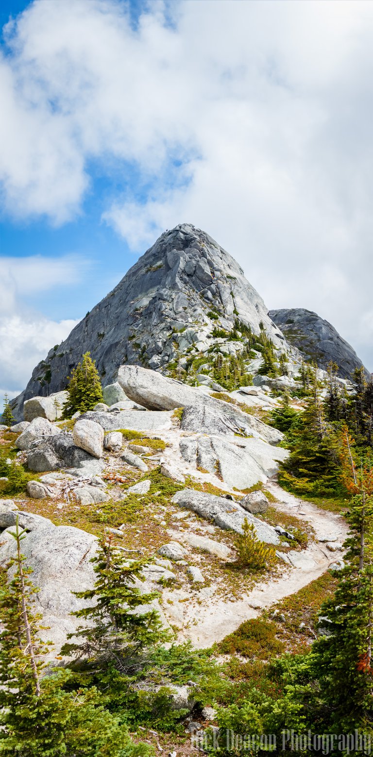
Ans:
[{"label": "dark-faced low boulder beneath the upright rounded pale boulder on left", "polygon": [[38,439],[30,446],[27,454],[29,470],[39,473],[57,471],[61,468],[81,468],[91,461],[92,456],[76,447],[71,434]]}]

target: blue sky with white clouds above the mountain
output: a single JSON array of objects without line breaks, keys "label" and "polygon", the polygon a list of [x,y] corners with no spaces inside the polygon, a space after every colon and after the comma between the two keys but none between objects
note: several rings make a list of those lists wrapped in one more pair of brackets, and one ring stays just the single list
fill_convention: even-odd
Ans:
[{"label": "blue sky with white clouds above the mountain", "polygon": [[11,0],[0,24],[0,395],[183,222],[373,369],[370,3]]}]

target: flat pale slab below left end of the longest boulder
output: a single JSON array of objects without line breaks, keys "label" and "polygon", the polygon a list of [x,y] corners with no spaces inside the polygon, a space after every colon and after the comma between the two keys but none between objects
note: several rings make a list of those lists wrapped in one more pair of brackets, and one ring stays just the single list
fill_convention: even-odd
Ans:
[{"label": "flat pale slab below left end of the longest boulder", "polygon": [[147,413],[145,410],[120,410],[119,413],[83,413],[86,418],[99,423],[104,431],[129,428],[131,431],[167,431],[172,428],[172,413]]}]

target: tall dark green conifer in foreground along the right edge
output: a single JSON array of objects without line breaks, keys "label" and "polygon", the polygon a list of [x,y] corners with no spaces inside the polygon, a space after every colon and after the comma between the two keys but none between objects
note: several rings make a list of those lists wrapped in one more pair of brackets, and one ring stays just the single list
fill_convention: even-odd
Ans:
[{"label": "tall dark green conifer in foreground along the right edge", "polygon": [[312,647],[312,668],[337,732],[360,728],[373,735],[373,460],[356,460],[353,439],[342,431],[343,482],[353,494],[347,521],[345,567],[337,590],[322,607],[331,634]]}]

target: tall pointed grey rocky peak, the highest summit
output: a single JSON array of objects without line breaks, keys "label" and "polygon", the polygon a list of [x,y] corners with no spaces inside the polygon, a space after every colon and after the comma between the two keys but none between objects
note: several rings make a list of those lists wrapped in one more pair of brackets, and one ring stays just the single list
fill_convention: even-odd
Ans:
[{"label": "tall pointed grey rocky peak, the highest summit", "polygon": [[264,329],[275,347],[290,349],[234,258],[206,232],[179,224],[163,232],[67,339],[49,350],[17,407],[64,389],[86,350],[106,385],[123,363],[165,370],[176,355],[207,351],[214,329],[231,332],[237,319],[255,334]]}]

